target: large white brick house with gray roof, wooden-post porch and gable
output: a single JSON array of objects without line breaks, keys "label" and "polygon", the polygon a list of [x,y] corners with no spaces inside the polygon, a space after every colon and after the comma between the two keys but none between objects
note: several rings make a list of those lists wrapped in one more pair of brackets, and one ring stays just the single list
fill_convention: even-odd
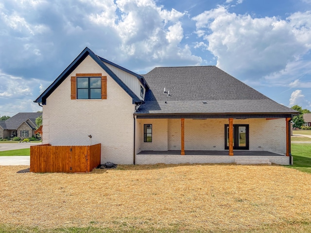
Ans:
[{"label": "large white brick house with gray roof, wooden-post porch and gable", "polygon": [[44,144],[101,143],[102,163],[291,163],[297,112],[215,66],[139,75],[86,48],[35,102]]}]

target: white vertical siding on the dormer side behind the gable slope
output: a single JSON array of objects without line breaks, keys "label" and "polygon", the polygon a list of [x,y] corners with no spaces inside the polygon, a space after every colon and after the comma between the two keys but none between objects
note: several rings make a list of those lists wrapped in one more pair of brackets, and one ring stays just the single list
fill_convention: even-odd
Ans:
[{"label": "white vertical siding on the dormer side behind the gable slope", "polygon": [[[112,70],[121,80],[122,82],[127,85],[137,96],[140,100],[144,100],[146,89],[141,85],[138,78],[134,75],[131,75],[117,67],[111,66],[104,62],[104,64]],[[140,96],[140,86],[144,88],[143,97]]]}]

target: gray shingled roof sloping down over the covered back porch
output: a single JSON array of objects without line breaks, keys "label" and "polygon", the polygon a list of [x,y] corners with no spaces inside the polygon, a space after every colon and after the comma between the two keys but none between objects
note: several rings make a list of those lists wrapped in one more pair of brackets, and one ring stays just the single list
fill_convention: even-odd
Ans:
[{"label": "gray shingled roof sloping down over the covered back porch", "polygon": [[215,66],[157,67],[143,76],[150,89],[137,115],[295,113]]}]

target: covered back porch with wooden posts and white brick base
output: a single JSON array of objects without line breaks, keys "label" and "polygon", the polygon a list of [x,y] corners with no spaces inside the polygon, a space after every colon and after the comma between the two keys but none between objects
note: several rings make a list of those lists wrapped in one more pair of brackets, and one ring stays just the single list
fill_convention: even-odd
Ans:
[{"label": "covered back porch with wooden posts and white brick base", "polygon": [[288,116],[138,116],[136,164],[291,164]]}]

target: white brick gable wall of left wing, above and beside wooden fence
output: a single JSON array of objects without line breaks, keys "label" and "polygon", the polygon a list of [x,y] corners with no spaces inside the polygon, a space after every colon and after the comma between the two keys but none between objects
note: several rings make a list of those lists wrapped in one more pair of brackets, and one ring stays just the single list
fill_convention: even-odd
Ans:
[{"label": "white brick gable wall of left wing, above and beside wooden fence", "polygon": [[[107,76],[106,100],[71,100],[71,76]],[[43,105],[43,144],[87,146],[101,143],[101,163],[133,164],[135,105],[132,98],[90,56],[61,83]],[[88,134],[92,135],[90,139]]]}]

